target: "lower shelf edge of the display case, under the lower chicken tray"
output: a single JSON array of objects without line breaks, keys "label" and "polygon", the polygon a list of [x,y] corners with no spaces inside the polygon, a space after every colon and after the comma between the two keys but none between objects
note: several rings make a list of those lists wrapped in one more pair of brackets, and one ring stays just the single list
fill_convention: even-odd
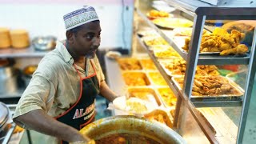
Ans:
[{"label": "lower shelf edge of the display case, under the lower chicken tray", "polygon": [[[162,77],[166,80],[168,86],[170,86],[171,90],[173,90],[176,96],[182,96],[182,90],[179,90],[177,86],[174,85],[174,82],[171,80],[170,76],[166,74],[165,70],[163,70],[162,66],[158,62],[158,58],[156,58],[152,51],[142,42],[141,38],[138,38],[138,43],[146,50],[149,54],[150,58],[154,62],[155,66],[158,68],[159,72],[162,74]],[[196,107],[225,107],[225,106],[242,106],[241,98],[191,98],[191,102],[193,102]]]}]

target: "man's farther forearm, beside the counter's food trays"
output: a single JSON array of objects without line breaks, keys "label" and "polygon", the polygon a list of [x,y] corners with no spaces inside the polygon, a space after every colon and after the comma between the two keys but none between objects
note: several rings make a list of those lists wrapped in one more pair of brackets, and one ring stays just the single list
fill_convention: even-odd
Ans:
[{"label": "man's farther forearm, beside the counter's food trays", "polygon": [[118,97],[118,95],[115,94],[113,90],[110,90],[110,87],[106,85],[105,81],[101,82],[100,93],[110,102],[113,102],[114,98]]}]

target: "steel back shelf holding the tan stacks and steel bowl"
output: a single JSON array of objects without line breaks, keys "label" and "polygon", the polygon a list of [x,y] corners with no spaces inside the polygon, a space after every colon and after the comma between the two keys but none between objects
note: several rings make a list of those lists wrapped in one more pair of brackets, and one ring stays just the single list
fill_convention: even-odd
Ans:
[{"label": "steel back shelf holding the tan stacks and steel bowl", "polygon": [[0,50],[0,58],[32,58],[43,57],[49,51],[37,51],[33,46],[24,49],[2,49]]}]

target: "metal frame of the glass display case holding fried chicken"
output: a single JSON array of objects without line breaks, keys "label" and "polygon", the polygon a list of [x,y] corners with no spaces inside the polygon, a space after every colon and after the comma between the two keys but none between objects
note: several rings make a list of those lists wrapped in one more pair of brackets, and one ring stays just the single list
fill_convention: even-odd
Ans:
[{"label": "metal frame of the glass display case holding fried chicken", "polygon": [[[146,15],[142,13],[141,10],[135,7],[135,10],[137,11],[138,15],[154,30],[158,32],[162,36],[162,38],[166,39],[166,42],[170,44],[186,60],[186,74],[184,78],[183,83],[183,89],[182,91],[178,90],[176,87],[173,86],[173,83],[170,81],[170,78],[166,75],[164,70],[162,70],[162,67],[159,66],[158,62],[156,61],[156,58],[154,57],[154,54],[146,48],[146,46],[143,44],[143,42],[140,42],[143,47],[147,50],[148,54],[150,55],[150,58],[153,59],[155,65],[158,67],[158,70],[162,74],[163,78],[166,79],[166,82],[170,86],[172,90],[177,94],[178,98],[178,104],[180,100],[183,102],[185,101],[186,106],[190,109],[190,112],[193,114],[194,118],[197,120],[199,126],[202,128],[202,130],[205,132],[206,137],[209,139],[210,142],[215,143],[215,138],[213,138],[213,134],[210,134],[210,130],[208,126],[205,126],[202,124],[202,118],[197,114],[197,110],[194,110],[194,106],[190,105],[191,103],[194,103],[195,106],[224,106],[220,105],[223,104],[222,101],[213,101],[213,102],[195,102],[193,99],[190,98],[191,92],[192,92],[192,84],[194,83],[194,74],[195,69],[197,65],[225,65],[225,64],[231,64],[231,65],[247,65],[248,66],[248,73],[246,76],[246,86],[245,86],[245,93],[244,97],[240,100],[234,100],[234,101],[225,101],[226,104],[229,104],[230,102],[234,104],[233,106],[241,106],[242,105],[242,114],[241,119],[238,127],[238,135],[237,135],[237,143],[242,143],[242,138],[246,126],[246,118],[248,114],[248,108],[249,108],[249,102],[250,102],[250,96],[252,92],[252,86],[254,83],[254,75],[256,71],[256,62],[253,62],[256,58],[255,54],[255,38],[256,34],[254,31],[254,41],[251,46],[250,54],[246,54],[246,56],[243,57],[234,57],[234,56],[211,56],[211,55],[199,55],[199,47],[201,43],[202,38],[202,30],[204,28],[204,24],[206,20],[256,20],[256,8],[251,7],[213,7],[210,5],[197,5],[197,6],[191,6],[188,5],[185,2],[177,1],[177,0],[165,0],[170,6],[174,6],[178,10],[181,10],[183,13],[186,13],[194,18],[194,26],[193,26],[193,32],[191,36],[190,41],[190,48],[189,52],[187,54],[184,54],[178,46],[175,44],[175,42],[166,36],[164,34],[163,30],[158,29],[157,26],[153,24],[153,22],[150,22],[148,18],[146,18]],[[204,6],[204,7],[202,7]],[[139,38],[138,38],[139,39]],[[177,105],[178,108],[178,105]],[[175,123],[178,122],[178,111],[177,109],[175,113],[174,118],[174,126]]]}]

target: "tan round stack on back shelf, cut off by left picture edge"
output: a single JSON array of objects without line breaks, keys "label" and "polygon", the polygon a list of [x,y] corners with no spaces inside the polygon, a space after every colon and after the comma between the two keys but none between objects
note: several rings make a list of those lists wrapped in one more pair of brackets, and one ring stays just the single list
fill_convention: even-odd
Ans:
[{"label": "tan round stack on back shelf, cut off by left picture edge", "polygon": [[0,28],[0,49],[10,47],[10,30],[7,28]]}]

